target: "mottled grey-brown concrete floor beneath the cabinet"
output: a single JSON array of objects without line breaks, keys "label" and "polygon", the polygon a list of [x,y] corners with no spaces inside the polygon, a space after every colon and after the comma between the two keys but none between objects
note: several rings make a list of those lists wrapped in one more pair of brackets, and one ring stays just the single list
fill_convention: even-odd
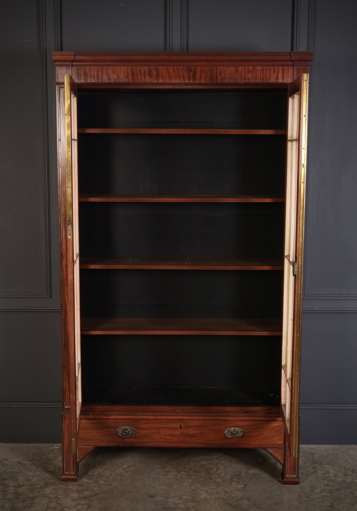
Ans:
[{"label": "mottled grey-brown concrete floor beneath the cabinet", "polygon": [[56,444],[0,444],[2,511],[357,510],[357,446],[301,446],[300,484],[256,449],[100,448],[61,482]]}]

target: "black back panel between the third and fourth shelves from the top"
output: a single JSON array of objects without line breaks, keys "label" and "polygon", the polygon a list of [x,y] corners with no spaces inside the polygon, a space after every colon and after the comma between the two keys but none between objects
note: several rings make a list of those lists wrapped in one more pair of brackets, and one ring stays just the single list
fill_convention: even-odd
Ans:
[{"label": "black back panel between the third and fourth shelves from the top", "polygon": [[282,271],[81,270],[83,317],[279,318]]}]

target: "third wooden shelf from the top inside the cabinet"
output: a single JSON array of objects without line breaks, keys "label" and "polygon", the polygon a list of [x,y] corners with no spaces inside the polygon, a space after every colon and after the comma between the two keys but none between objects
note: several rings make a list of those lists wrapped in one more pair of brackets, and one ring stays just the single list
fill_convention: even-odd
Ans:
[{"label": "third wooden shelf from the top inside the cabinet", "polygon": [[103,270],[282,270],[281,259],[156,259],[82,257],[81,268]]}]

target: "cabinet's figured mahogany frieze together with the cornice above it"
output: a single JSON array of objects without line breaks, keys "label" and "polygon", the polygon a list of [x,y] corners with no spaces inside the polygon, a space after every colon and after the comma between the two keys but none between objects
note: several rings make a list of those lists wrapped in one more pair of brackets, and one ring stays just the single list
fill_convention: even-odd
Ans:
[{"label": "cabinet's figured mahogany frieze together with the cornice above it", "polygon": [[306,72],[311,52],[72,53],[53,52],[56,81],[79,86],[284,86]]}]

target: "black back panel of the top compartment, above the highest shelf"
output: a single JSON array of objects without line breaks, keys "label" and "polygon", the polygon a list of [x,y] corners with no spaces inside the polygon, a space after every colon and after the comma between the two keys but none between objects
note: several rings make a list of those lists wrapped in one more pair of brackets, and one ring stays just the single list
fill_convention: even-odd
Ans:
[{"label": "black back panel of the top compartment, above the highest shelf", "polygon": [[257,91],[80,92],[80,128],[286,129],[287,94]]}]

